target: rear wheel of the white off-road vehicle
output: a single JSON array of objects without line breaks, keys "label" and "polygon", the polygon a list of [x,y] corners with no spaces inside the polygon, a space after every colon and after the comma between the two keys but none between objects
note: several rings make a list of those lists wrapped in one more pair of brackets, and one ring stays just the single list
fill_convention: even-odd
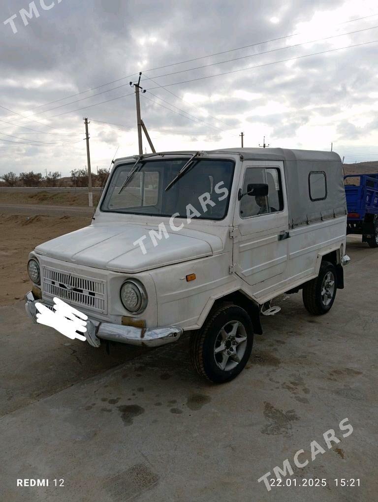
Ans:
[{"label": "rear wheel of the white off-road vehicle", "polygon": [[303,304],[310,314],[326,314],[333,305],[337,290],[337,273],[330,262],[322,262],[319,275],[305,284]]}]

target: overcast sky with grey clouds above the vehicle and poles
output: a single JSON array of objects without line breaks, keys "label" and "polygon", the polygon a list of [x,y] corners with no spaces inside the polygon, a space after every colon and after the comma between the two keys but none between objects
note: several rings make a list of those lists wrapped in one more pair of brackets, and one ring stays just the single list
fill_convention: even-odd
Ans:
[{"label": "overcast sky with grey clouds above the vehicle and poles", "polygon": [[139,71],[157,151],[243,131],[244,146],[378,160],[376,1],[54,2],[0,3],[0,174],[86,165],[84,116],[92,169],[138,153]]}]

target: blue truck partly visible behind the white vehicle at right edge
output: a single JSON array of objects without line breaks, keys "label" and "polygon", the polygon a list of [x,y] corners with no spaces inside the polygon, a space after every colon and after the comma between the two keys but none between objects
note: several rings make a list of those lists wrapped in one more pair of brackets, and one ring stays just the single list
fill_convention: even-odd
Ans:
[{"label": "blue truck partly visible behind the white vehicle at right edge", "polygon": [[[346,182],[348,178],[350,183]],[[378,247],[378,174],[348,174],[344,176],[344,186],[348,208],[346,234],[360,234],[362,242]]]}]

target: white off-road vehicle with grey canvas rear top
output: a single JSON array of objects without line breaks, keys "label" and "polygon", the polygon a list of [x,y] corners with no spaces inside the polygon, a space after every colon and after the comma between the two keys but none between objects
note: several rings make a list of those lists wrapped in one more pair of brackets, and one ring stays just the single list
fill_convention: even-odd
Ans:
[{"label": "white off-road vehicle with grey canvas rear top", "polygon": [[[314,315],[343,288],[346,202],[332,152],[225,149],[117,159],[92,224],[30,254],[26,310],[54,297],[85,337],[158,346],[191,336],[213,382],[245,366],[260,315],[303,290]],[[81,342],[78,342],[81,343]]]}]

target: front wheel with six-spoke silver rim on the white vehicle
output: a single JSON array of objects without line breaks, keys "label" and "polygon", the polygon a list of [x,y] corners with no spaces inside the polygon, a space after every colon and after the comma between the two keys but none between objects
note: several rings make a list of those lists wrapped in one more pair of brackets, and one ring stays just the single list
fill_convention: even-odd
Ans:
[{"label": "front wheel with six-spoke silver rim on the white vehicle", "polygon": [[211,382],[228,382],[244,368],[253,340],[253,326],[245,310],[223,304],[192,335],[190,355],[194,368]]}]

